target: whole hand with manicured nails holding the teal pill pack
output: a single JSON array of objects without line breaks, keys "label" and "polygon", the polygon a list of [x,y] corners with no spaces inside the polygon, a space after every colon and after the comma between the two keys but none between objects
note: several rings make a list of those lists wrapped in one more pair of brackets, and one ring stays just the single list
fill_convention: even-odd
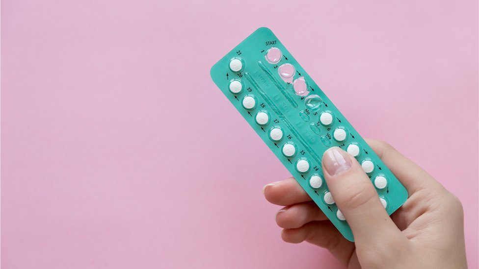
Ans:
[{"label": "whole hand with manicured nails holding the teal pill pack", "polygon": [[366,142],[406,187],[404,205],[389,217],[357,160],[338,147],[328,149],[324,179],[355,242],[339,233],[292,177],[263,189],[269,202],[285,206],[276,214],[283,241],[327,248],[351,269],[467,268],[459,199],[387,143]]}]

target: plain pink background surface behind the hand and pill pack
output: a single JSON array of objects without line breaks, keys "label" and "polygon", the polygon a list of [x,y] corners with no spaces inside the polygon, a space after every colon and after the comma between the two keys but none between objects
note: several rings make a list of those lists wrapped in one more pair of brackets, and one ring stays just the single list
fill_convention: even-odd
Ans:
[{"label": "plain pink background surface behind the hand and pill pack", "polygon": [[290,175],[209,76],[268,26],[460,197],[478,268],[478,1],[287,2],[2,0],[1,265],[340,268],[281,241]]}]

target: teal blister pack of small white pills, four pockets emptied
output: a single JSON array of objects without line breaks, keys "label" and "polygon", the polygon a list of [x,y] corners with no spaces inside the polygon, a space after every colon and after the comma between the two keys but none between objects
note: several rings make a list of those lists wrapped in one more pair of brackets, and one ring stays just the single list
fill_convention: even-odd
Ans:
[{"label": "teal blister pack of small white pills, four pockets emptied", "polygon": [[389,215],[406,201],[404,186],[268,28],[221,58],[211,77],[347,240],[351,229],[321,170],[329,147],[358,160]]}]

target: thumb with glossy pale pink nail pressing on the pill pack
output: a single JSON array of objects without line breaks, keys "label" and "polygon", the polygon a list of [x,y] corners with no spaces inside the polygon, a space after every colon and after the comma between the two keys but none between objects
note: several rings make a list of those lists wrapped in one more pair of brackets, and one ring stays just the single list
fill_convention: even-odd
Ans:
[{"label": "thumb with glossy pale pink nail pressing on the pill pack", "polygon": [[[324,178],[347,223],[356,245],[384,244],[384,239],[402,236],[389,218],[371,179],[354,157],[339,147],[331,147],[322,157]],[[382,243],[381,243],[382,242]]]}]

